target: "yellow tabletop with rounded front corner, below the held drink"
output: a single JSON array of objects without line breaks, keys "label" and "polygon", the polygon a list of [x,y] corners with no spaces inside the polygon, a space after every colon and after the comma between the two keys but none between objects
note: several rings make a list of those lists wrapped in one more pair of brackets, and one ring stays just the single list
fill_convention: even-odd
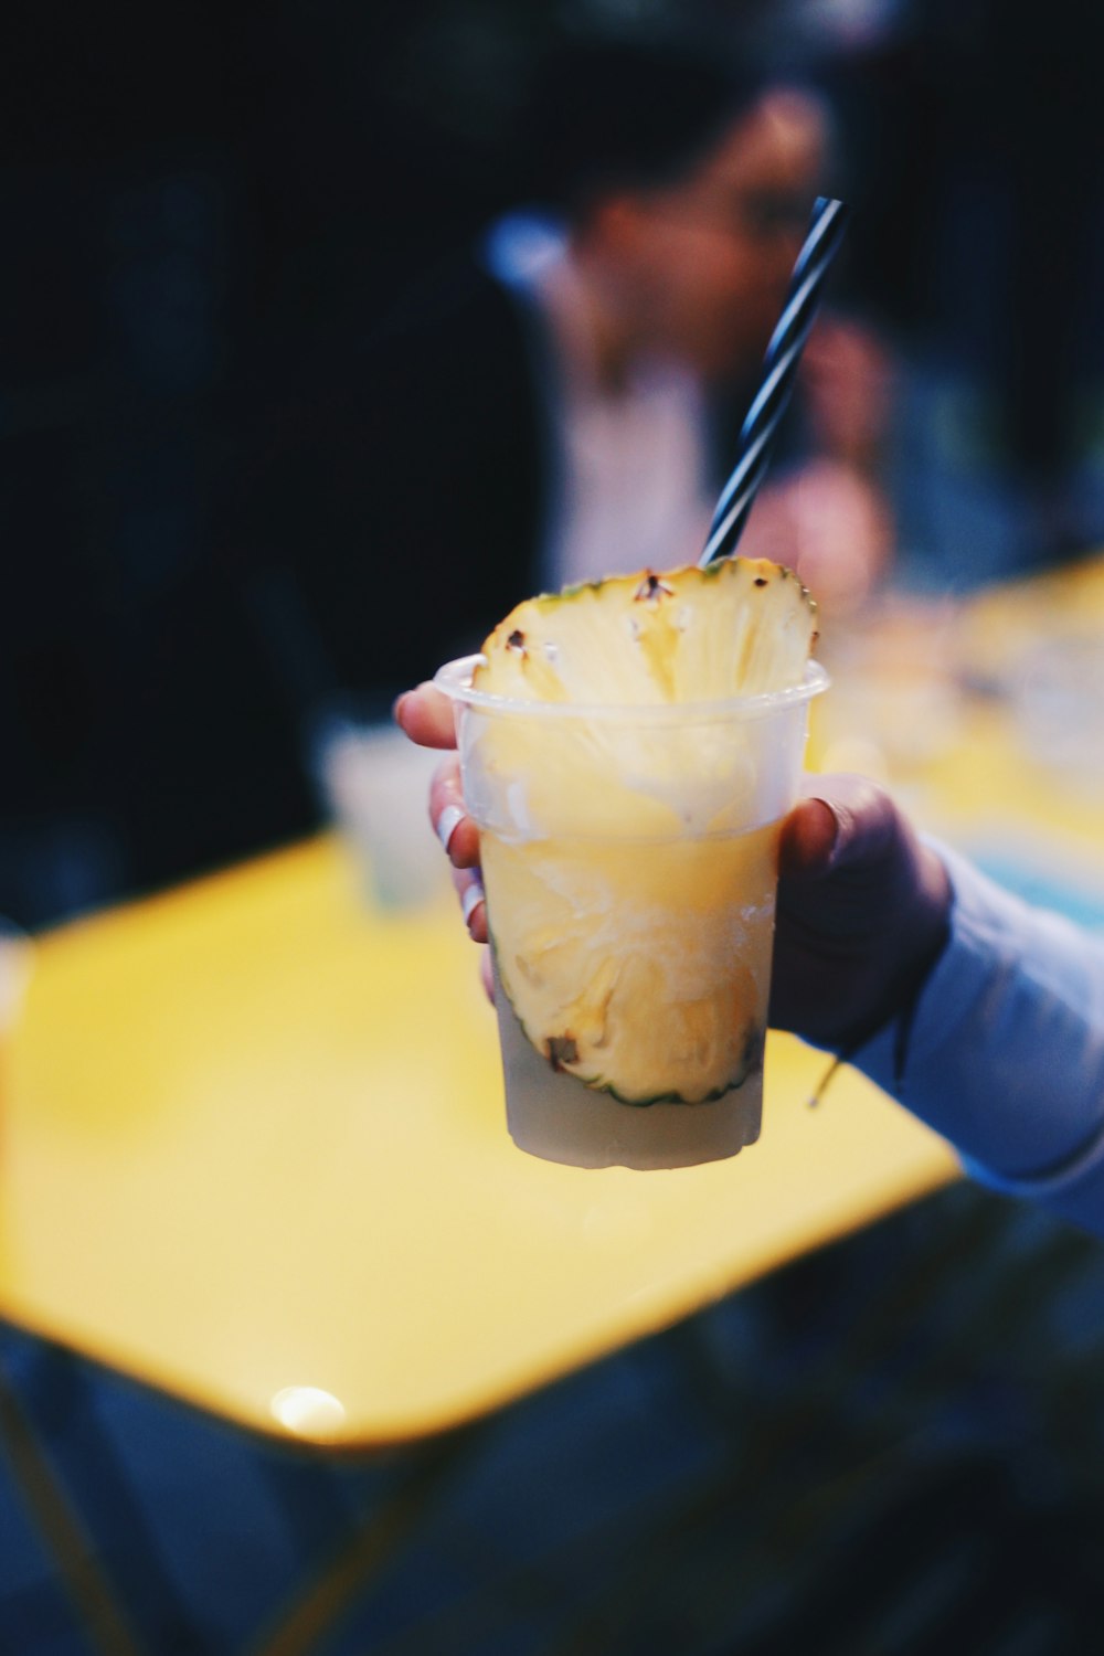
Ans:
[{"label": "yellow tabletop with rounded front corner, below the held drink", "polygon": [[760,1144],[559,1167],[503,1124],[450,893],[328,838],[41,937],[2,1050],[0,1315],[255,1431],[463,1424],[955,1176],[771,1037]]}]

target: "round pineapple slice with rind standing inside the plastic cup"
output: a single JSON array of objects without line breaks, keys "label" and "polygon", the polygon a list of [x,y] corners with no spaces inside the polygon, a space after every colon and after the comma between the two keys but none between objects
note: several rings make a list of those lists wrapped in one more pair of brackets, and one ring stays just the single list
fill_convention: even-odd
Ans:
[{"label": "round pineapple slice with rind standing inside the plastic cup", "polygon": [[487,639],[480,692],[594,710],[475,737],[495,969],[554,1070],[695,1105],[761,1063],[780,810],[740,725],[662,710],[799,686],[814,626],[791,571],[733,558],[533,598]]}]

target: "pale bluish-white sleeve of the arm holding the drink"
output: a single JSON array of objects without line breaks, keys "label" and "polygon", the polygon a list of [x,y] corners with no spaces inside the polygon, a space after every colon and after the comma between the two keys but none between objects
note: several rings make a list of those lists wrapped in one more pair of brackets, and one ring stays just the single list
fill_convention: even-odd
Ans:
[{"label": "pale bluish-white sleeve of the arm holding the drink", "polygon": [[852,1061],[972,1177],[1104,1235],[1104,939],[935,850],[953,888],[950,941],[902,1061],[897,1025]]}]

